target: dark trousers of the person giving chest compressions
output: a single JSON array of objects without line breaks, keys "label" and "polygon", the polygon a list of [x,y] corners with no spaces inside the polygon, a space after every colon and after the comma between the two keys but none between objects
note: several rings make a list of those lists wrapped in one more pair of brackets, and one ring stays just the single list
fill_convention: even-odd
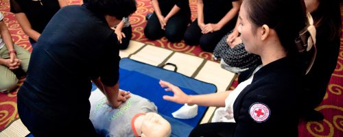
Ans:
[{"label": "dark trousers of the person giving chest compressions", "polygon": [[23,124],[35,137],[39,136],[97,136],[91,120],[65,121],[51,120],[40,116],[21,102],[17,101],[18,113]]}]

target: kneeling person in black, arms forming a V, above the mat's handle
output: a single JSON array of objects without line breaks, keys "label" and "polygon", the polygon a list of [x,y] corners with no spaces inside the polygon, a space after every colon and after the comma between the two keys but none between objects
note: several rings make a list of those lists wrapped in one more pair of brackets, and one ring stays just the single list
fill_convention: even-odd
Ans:
[{"label": "kneeling person in black, arms forming a V, above the mat's handle", "polygon": [[147,21],[144,35],[149,40],[165,36],[170,42],[179,42],[191,22],[187,0],[152,0],[154,13]]}]

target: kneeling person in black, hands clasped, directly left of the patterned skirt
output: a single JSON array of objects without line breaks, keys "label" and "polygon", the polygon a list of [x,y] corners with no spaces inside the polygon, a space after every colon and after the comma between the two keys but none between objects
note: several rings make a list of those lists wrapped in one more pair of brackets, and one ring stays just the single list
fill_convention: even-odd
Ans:
[{"label": "kneeling person in black, hands clasped, directly left of the patterned skirt", "polygon": [[213,52],[215,45],[235,27],[241,0],[198,0],[198,18],[185,32],[187,45]]}]

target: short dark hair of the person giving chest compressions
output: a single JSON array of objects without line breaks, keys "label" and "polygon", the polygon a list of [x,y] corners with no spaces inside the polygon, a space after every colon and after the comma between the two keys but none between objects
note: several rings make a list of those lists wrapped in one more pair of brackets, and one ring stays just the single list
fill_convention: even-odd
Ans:
[{"label": "short dark hair of the person giving chest compressions", "polygon": [[107,14],[119,19],[137,10],[135,0],[84,0],[84,3],[87,8],[98,14]]}]

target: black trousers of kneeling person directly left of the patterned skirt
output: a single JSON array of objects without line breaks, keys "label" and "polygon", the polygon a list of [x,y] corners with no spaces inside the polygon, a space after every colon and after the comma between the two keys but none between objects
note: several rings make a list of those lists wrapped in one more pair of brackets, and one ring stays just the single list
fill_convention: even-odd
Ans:
[{"label": "black trousers of kneeling person directly left of the patterned skirt", "polygon": [[224,25],[222,29],[216,32],[202,34],[198,25],[198,19],[196,19],[196,21],[193,21],[193,23],[188,27],[184,40],[187,45],[200,45],[202,50],[213,52],[215,46],[224,37],[224,35],[235,27],[236,21],[237,17],[233,18],[230,22]]}]

